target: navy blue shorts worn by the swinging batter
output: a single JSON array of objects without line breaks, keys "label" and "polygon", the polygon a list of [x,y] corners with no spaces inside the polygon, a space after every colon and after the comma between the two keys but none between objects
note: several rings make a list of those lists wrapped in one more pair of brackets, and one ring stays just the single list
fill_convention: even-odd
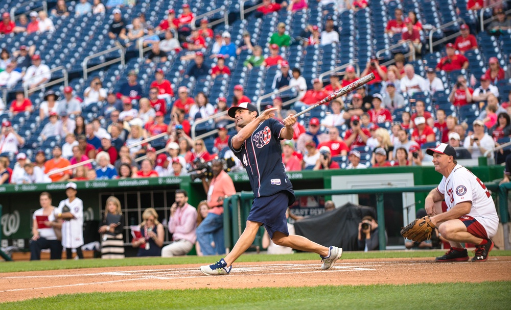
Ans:
[{"label": "navy blue shorts worn by the swinging batter", "polygon": [[263,223],[270,239],[273,238],[275,231],[289,236],[286,218],[289,195],[289,192],[282,191],[271,196],[255,197],[247,220]]}]

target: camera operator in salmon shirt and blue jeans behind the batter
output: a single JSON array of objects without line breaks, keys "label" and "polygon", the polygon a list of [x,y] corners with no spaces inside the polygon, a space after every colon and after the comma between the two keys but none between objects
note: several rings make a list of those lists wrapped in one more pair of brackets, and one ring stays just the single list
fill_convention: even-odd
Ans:
[{"label": "camera operator in salmon shirt and blue jeans behind the batter", "polygon": [[[225,253],[223,199],[234,195],[236,189],[233,180],[223,169],[223,161],[214,159],[211,166],[213,177],[208,180],[206,177],[202,177],[202,186],[207,193],[207,206],[210,208],[206,218],[197,227],[197,241],[204,255]],[[215,242],[215,247],[211,245],[211,239]]]}]

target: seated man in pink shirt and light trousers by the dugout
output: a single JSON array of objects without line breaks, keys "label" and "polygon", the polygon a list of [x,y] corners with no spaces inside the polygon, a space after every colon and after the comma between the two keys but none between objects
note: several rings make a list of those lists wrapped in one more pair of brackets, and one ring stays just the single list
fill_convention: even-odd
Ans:
[{"label": "seated man in pink shirt and light trousers by the dugout", "polygon": [[188,204],[185,190],[176,190],[175,202],[170,207],[169,232],[172,243],[161,249],[161,257],[186,255],[192,250],[197,228],[197,209]]}]

